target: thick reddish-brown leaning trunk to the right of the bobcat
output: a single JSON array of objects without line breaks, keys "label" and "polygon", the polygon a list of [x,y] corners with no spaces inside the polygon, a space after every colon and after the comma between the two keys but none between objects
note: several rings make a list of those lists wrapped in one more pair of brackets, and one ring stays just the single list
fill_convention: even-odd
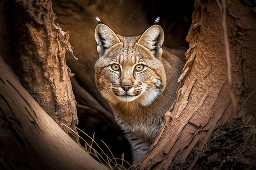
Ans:
[{"label": "thick reddish-brown leaning trunk to the right of the bobcat", "polygon": [[[214,0],[196,0],[177,99],[137,170],[172,169],[184,164],[188,157],[193,157],[194,161],[187,167],[192,169],[198,160],[197,154],[203,152],[216,126],[233,117],[255,114],[256,95],[245,102],[254,93],[256,84],[255,7],[232,1],[227,4],[225,15],[232,87],[227,82],[219,9]],[[230,88],[237,102],[233,111]]]}]

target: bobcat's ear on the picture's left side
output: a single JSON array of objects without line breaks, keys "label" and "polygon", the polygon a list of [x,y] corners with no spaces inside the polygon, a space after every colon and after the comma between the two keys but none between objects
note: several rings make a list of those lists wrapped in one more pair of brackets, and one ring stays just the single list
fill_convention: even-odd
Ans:
[{"label": "bobcat's ear on the picture's left side", "polygon": [[110,46],[115,45],[120,42],[117,35],[105,24],[98,24],[94,31],[94,37],[97,42],[97,51],[99,57],[102,57],[106,49]]}]

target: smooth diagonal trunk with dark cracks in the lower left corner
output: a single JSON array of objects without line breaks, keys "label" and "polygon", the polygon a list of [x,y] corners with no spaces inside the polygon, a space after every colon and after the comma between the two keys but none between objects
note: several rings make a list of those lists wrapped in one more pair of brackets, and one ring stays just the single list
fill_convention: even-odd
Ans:
[{"label": "smooth diagonal trunk with dark cracks in the lower left corner", "polygon": [[107,170],[22,87],[0,56],[0,169]]}]

